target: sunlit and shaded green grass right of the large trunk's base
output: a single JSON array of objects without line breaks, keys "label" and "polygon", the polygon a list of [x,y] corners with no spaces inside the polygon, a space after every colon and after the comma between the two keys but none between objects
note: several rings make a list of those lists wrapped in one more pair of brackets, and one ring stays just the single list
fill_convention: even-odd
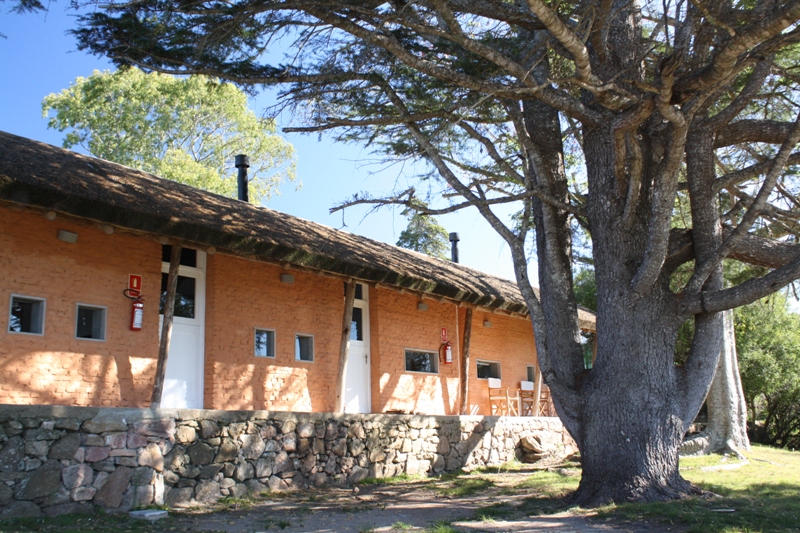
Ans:
[{"label": "sunlit and shaded green grass right of the large trunk's base", "polygon": [[721,497],[609,506],[600,514],[681,523],[690,533],[800,531],[800,452],[753,446],[744,455],[748,464],[736,470],[709,470],[738,463],[719,455],[681,459],[686,479]]}]

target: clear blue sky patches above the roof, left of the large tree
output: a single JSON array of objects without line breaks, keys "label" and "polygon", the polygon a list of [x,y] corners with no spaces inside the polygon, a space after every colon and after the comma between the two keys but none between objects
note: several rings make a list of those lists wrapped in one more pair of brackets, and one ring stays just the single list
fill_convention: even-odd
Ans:
[{"label": "clear blue sky patches above the roof, left of the large tree", "polygon": [[[78,76],[93,70],[113,69],[105,59],[79,52],[66,31],[75,27],[74,12],[67,1],[50,4],[47,14],[9,14],[8,4],[0,3],[0,130],[42,142],[61,145],[63,133],[47,128],[41,116],[46,95],[68,87]],[[256,112],[273,104],[269,93],[257,97]],[[282,126],[291,117],[280,117]],[[336,144],[317,135],[287,134],[298,154],[298,176],[302,188],[295,191],[284,185],[281,196],[267,207],[291,215],[344,229],[379,241],[394,244],[405,228],[400,209],[382,209],[368,214],[366,209],[350,209],[329,214],[335,203],[369,190],[374,196],[405,189],[413,182],[410,165],[375,162],[368,150],[355,145]],[[483,221],[477,210],[439,217],[447,231],[458,232],[461,263],[497,276],[514,279],[511,255],[499,236]],[[344,224],[344,225],[343,225]],[[536,279],[531,272],[533,279]]]}]

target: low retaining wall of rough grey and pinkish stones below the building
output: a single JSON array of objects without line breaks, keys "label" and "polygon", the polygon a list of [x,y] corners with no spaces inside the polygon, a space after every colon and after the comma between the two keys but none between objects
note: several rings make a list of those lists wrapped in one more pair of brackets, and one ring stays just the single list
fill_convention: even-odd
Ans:
[{"label": "low retaining wall of rough grey and pinkish stones below the building", "polygon": [[0,405],[0,518],[180,507],[506,463],[557,418]]}]

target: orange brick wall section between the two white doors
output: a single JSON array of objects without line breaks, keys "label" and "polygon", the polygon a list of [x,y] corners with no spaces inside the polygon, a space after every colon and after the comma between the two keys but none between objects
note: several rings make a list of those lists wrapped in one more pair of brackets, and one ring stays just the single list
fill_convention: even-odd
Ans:
[{"label": "orange brick wall section between the two white doors", "polygon": [[[341,280],[226,255],[208,258],[205,407],[331,411],[341,342]],[[275,359],[255,357],[254,329],[275,330]],[[314,362],[295,360],[296,333]]]}]

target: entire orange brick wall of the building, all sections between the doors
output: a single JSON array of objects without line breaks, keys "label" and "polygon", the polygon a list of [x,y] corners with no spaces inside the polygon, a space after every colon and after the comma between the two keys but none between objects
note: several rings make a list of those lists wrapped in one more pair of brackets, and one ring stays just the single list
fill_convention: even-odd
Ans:
[{"label": "entire orange brick wall of the building, all sections between the doors", "polygon": [[[64,229],[75,244],[56,238]],[[158,352],[161,246],[153,239],[0,207],[0,403],[147,406]],[[331,411],[341,339],[338,279],[216,254],[208,256],[204,405],[210,409]],[[141,332],[128,328],[128,274],[143,276]],[[12,294],[46,299],[43,336],[8,332]],[[369,288],[372,411],[458,414],[465,310],[386,288]],[[75,339],[76,304],[108,307],[106,341]],[[484,328],[483,321],[492,322]],[[275,359],[255,357],[254,328],[276,332]],[[438,352],[441,328],[453,364],[407,372],[406,348]],[[314,362],[295,360],[295,333],[314,335]],[[489,414],[476,360],[499,361],[518,387],[536,362],[528,320],[475,312],[470,412]]]}]

